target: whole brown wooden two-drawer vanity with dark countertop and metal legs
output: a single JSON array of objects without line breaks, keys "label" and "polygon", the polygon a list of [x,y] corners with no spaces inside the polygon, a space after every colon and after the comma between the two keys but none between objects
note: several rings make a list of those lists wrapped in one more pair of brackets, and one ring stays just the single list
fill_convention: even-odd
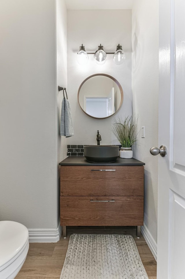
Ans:
[{"label": "whole brown wooden two-drawer vanity with dark countertop and metal legs", "polygon": [[60,224],[140,226],[144,214],[144,165],[134,158],[90,163],[69,156],[60,165]]}]

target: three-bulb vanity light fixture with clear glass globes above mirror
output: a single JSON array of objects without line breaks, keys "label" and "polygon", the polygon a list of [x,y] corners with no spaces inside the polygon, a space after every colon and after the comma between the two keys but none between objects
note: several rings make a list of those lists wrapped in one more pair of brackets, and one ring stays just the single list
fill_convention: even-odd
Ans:
[{"label": "three-bulb vanity light fixture with clear glass globes above mirror", "polygon": [[105,52],[103,46],[100,44],[96,52],[86,52],[85,46],[80,46],[79,52],[77,53],[77,62],[80,65],[85,65],[88,62],[88,54],[95,55],[95,61],[99,65],[103,65],[106,62],[107,54],[114,54],[113,61],[116,65],[120,65],[125,61],[125,53],[122,50],[122,46],[118,44],[116,52]]}]

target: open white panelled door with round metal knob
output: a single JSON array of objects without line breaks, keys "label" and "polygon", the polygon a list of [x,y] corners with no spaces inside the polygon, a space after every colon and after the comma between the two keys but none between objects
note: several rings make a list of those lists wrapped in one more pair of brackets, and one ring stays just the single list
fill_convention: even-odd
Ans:
[{"label": "open white panelled door with round metal knob", "polygon": [[185,278],[185,1],[159,1],[157,279]]}]

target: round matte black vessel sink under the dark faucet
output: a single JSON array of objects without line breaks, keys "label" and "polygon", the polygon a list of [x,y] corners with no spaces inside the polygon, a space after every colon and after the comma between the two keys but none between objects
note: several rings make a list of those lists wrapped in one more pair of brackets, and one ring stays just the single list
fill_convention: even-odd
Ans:
[{"label": "round matte black vessel sink under the dark faucet", "polygon": [[86,160],[93,163],[115,162],[119,156],[118,145],[84,145]]}]

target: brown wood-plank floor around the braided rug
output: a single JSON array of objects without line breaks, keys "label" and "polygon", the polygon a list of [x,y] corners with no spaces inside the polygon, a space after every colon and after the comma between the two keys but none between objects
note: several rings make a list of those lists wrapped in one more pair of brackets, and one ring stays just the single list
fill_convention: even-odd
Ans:
[{"label": "brown wood-plank floor around the braided rug", "polygon": [[72,233],[132,235],[149,279],[156,279],[157,264],[143,235],[136,237],[136,227],[67,227],[67,238],[57,243],[30,243],[22,269],[16,279],[59,279]]}]

